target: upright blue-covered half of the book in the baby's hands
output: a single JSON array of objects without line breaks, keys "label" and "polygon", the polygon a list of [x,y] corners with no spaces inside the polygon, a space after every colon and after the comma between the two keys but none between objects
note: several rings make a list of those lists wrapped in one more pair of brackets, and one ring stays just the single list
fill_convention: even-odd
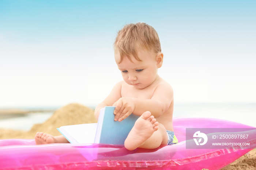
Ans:
[{"label": "upright blue-covered half of the book in the baby's hands", "polygon": [[108,106],[101,109],[94,143],[124,144],[139,116],[131,114],[120,122],[114,121],[115,108]]}]

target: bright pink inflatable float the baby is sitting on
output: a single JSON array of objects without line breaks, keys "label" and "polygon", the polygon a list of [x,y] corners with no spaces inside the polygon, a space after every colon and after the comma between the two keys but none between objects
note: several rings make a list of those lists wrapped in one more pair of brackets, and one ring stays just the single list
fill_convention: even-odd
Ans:
[{"label": "bright pink inflatable float the baby is sitting on", "polygon": [[[173,119],[179,143],[157,149],[128,151],[123,145],[45,144],[33,139],[0,140],[0,169],[221,169],[256,147],[256,128],[227,120],[178,117]],[[188,148],[186,128],[254,128],[244,131],[249,146]],[[211,134],[211,136],[217,136]],[[210,140],[208,138],[208,140]],[[187,148],[186,148],[187,143]]]}]

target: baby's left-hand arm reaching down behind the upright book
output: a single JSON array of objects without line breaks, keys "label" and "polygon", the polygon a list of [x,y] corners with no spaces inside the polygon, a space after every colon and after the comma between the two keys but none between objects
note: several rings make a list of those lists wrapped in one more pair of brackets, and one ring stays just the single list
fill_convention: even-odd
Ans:
[{"label": "baby's left-hand arm reaching down behind the upright book", "polygon": [[95,118],[98,120],[99,111],[106,106],[112,106],[119,98],[121,98],[121,82],[118,82],[113,87],[110,94],[100,104],[97,105],[94,111]]}]

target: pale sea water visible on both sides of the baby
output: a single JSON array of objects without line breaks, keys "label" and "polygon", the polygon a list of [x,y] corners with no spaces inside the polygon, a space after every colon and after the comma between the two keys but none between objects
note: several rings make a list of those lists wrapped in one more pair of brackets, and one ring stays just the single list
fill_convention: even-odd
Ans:
[{"label": "pale sea water visible on both sides of the baby", "polygon": [[[0,128],[28,131],[34,124],[44,123],[52,116],[52,113],[38,112],[22,117],[0,119]],[[256,127],[256,103],[174,104],[173,117],[209,117]]]}]

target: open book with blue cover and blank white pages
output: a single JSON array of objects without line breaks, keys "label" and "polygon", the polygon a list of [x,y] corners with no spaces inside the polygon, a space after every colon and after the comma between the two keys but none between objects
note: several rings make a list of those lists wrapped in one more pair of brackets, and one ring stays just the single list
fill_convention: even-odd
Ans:
[{"label": "open book with blue cover and blank white pages", "polygon": [[131,114],[122,121],[114,121],[115,107],[102,108],[98,123],[61,126],[57,128],[70,143],[124,144],[139,116]]}]

